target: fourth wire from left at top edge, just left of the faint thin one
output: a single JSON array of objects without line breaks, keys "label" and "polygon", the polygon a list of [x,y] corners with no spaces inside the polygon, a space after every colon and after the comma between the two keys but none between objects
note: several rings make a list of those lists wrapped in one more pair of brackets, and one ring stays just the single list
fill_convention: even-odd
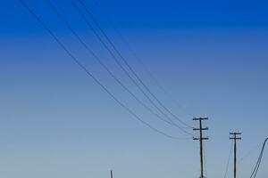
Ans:
[{"label": "fourth wire from left at top edge, just left of the faint thin one", "polygon": [[177,119],[180,124],[188,126],[188,128],[192,128],[192,126],[186,124],[185,122],[183,122],[182,120],[180,120],[179,117],[177,117],[176,115],[174,115],[172,113],[172,111],[170,109],[167,109],[163,103],[161,101],[159,101],[159,99],[155,96],[155,94],[148,88],[147,85],[145,85],[145,83],[141,80],[140,77],[138,77],[138,74],[135,72],[134,69],[132,69],[132,67],[130,66],[129,62],[122,56],[122,54],[120,53],[120,51],[116,48],[116,46],[113,44],[112,40],[109,38],[109,36],[106,35],[105,31],[103,28],[101,28],[101,26],[99,25],[99,23],[97,22],[96,18],[93,16],[93,14],[89,11],[88,7],[86,6],[86,4],[84,4],[81,0],[79,0],[80,4],[83,6],[83,8],[86,10],[86,12],[88,13],[88,15],[91,17],[91,19],[94,21],[94,23],[96,24],[96,27],[101,31],[101,33],[105,36],[105,39],[108,41],[109,44],[111,44],[111,46],[113,47],[113,50],[120,56],[121,60],[124,62],[124,64],[128,67],[128,69],[130,69],[131,73],[138,79],[138,82],[143,85],[143,87],[145,87],[145,89],[147,90],[148,93],[150,93],[151,96],[153,96],[153,98],[155,99],[155,101],[157,101],[157,103],[163,108],[165,109],[169,114],[172,115],[172,117],[174,117],[175,119]]}]

